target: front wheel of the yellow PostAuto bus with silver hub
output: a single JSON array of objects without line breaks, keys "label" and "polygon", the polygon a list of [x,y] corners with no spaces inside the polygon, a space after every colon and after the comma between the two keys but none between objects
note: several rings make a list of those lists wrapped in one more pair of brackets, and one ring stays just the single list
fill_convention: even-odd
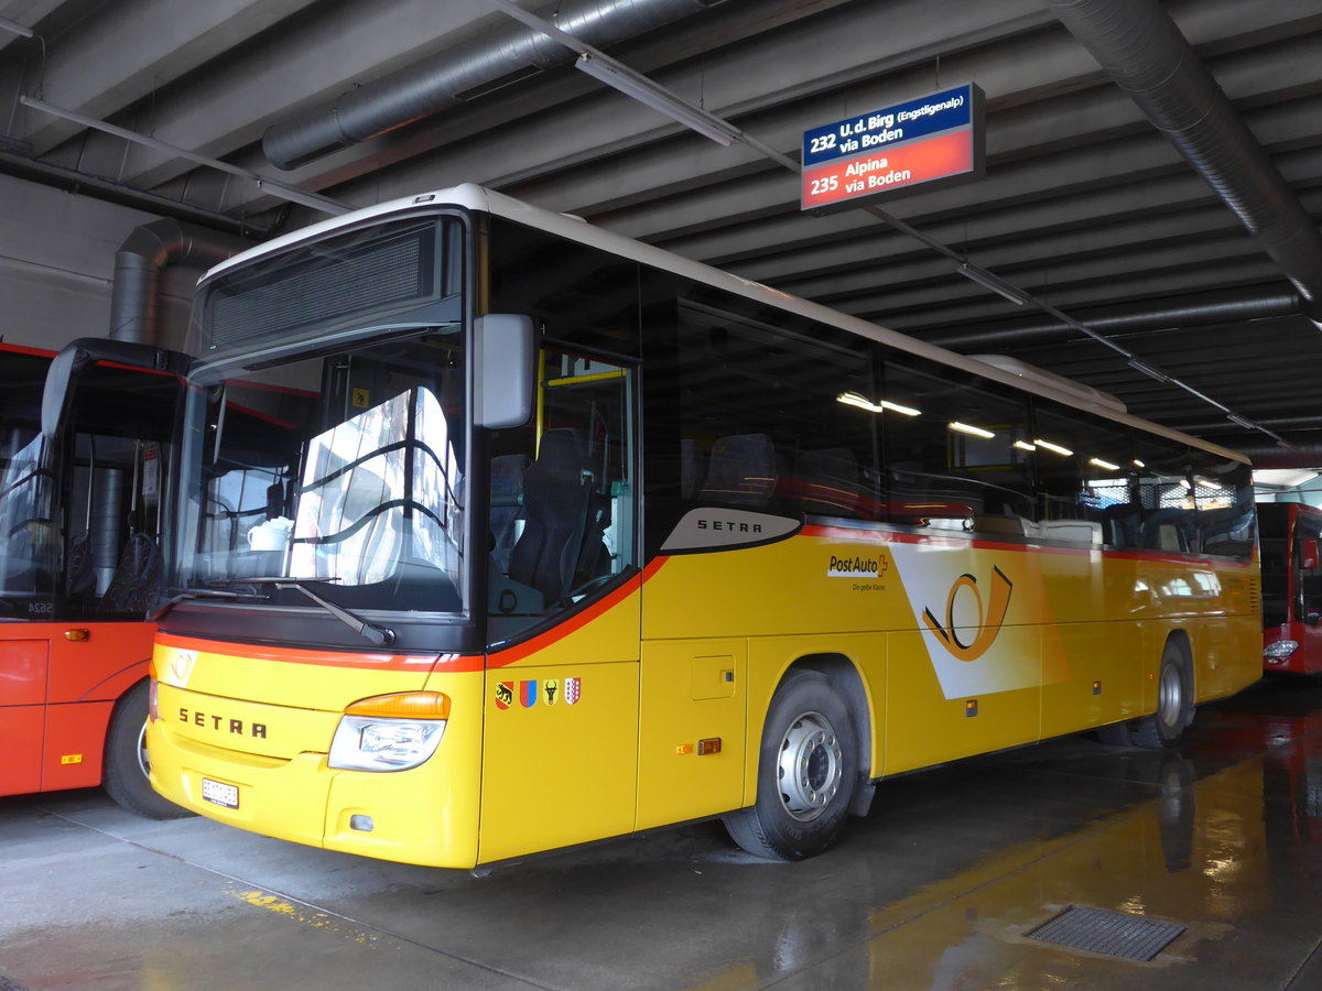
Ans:
[{"label": "front wheel of the yellow PostAuto bus with silver hub", "polygon": [[826,675],[791,671],[767,711],[758,801],[724,817],[726,830],[756,856],[804,860],[839,838],[857,782],[849,710]]}]

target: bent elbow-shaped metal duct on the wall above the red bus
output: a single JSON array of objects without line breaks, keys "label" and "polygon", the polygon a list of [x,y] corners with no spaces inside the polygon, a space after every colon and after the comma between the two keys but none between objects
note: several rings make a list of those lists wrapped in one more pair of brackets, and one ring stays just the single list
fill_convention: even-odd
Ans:
[{"label": "bent elbow-shaped metal duct on the wall above the red bus", "polygon": [[251,242],[173,219],[135,227],[115,252],[110,297],[112,341],[160,345],[160,277],[165,266],[210,268]]}]

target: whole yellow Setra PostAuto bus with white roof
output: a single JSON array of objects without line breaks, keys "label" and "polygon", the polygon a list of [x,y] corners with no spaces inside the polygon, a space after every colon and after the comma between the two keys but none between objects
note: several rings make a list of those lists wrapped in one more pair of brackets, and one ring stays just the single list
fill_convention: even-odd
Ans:
[{"label": "whole yellow Setra PostAuto bus with white roof", "polygon": [[1261,670],[1240,456],[479,186],[215,267],[189,353],[148,749],[242,828],[795,860]]}]

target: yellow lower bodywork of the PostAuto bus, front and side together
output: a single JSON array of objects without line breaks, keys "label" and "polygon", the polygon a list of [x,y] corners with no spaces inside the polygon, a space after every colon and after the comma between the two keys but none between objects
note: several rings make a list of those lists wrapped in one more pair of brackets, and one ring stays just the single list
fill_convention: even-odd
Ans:
[{"label": "yellow lower bodywork of the PostAuto bus, front and side together", "polygon": [[[882,777],[1150,714],[1173,634],[1196,700],[1229,695],[1261,674],[1256,596],[1248,563],[810,526],[661,558],[485,659],[161,636],[152,777],[243,828],[472,867],[751,805],[795,665],[843,678]],[[452,699],[431,760],[327,766],[345,706],[420,687]],[[239,809],[204,802],[202,777]]]}]

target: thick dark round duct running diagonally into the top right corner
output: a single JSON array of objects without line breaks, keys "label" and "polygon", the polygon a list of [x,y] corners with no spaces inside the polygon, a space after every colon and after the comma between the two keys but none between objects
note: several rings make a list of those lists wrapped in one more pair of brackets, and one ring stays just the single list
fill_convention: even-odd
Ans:
[{"label": "thick dark round duct running diagonally into the top right corner", "polygon": [[1322,328],[1322,238],[1157,0],[1046,0],[1235,211]]}]

